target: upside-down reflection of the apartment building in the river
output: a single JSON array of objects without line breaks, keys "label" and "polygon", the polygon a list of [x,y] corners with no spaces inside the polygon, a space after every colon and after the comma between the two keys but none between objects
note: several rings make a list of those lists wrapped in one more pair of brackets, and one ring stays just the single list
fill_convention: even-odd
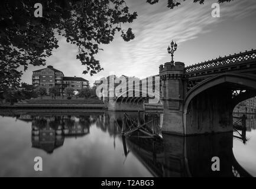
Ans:
[{"label": "upside-down reflection of the apartment building in the river", "polygon": [[34,117],[32,120],[31,142],[33,148],[40,148],[47,153],[63,145],[67,136],[77,137],[89,133],[89,122],[82,116]]}]

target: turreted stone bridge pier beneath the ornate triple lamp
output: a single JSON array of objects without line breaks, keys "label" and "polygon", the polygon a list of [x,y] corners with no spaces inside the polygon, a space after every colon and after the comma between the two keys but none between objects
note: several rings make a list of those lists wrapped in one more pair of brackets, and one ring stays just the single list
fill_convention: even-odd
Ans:
[{"label": "turreted stone bridge pier beneath the ornate triple lamp", "polygon": [[165,63],[159,67],[161,93],[163,103],[163,132],[184,134],[183,100],[184,100],[184,63],[175,65]]}]

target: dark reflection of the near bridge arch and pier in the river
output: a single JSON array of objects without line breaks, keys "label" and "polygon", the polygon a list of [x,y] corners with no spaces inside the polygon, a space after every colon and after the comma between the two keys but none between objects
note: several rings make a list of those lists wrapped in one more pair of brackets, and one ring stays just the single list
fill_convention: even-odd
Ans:
[{"label": "dark reflection of the near bridge arch and pier in the river", "polygon": [[[234,157],[231,133],[188,138],[163,135],[163,142],[140,138],[126,141],[131,152],[158,177],[251,177]],[[211,170],[212,157],[220,158],[220,171]]]}]

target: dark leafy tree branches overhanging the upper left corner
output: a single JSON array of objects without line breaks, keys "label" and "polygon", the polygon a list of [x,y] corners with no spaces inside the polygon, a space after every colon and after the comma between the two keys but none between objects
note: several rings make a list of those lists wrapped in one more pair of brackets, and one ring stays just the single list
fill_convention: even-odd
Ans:
[{"label": "dark leafy tree branches overhanging the upper left corner", "polygon": [[41,1],[43,17],[34,17],[34,5],[38,1],[0,1],[0,92],[20,85],[22,71],[28,64],[45,65],[57,45],[57,34],[67,43],[76,44],[76,58],[85,65],[84,74],[93,75],[102,70],[95,54],[99,44],[108,44],[116,31],[121,31],[125,41],[135,36],[131,28],[122,29],[122,24],[131,23],[137,13],[129,13],[124,0],[62,0]]}]

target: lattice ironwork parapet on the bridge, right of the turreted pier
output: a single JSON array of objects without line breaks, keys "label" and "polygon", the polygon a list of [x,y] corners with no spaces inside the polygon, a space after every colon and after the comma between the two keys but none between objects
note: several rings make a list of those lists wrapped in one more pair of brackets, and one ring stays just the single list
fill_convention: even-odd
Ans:
[{"label": "lattice ironwork parapet on the bridge, right of the turreted pier", "polygon": [[241,61],[248,61],[256,59],[256,50],[245,51],[245,53],[239,53],[230,55],[228,57],[216,58],[216,60],[206,61],[205,63],[199,63],[196,65],[188,66],[185,68],[186,73],[191,73],[199,70],[208,70],[227,64],[240,63]]}]

